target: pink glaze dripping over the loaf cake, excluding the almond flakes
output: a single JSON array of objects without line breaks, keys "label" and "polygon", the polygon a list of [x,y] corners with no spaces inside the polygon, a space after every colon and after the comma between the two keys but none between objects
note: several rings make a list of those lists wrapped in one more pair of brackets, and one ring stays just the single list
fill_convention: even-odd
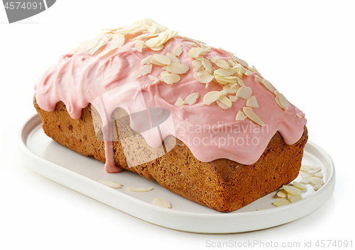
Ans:
[{"label": "pink glaze dripping over the loaf cake, excluding the almond flakes", "polygon": [[[147,108],[167,108],[171,113],[170,118],[159,126],[159,130],[155,127],[144,131],[141,128],[143,124],[133,116],[131,127],[142,132],[152,147],[159,147],[166,136],[174,135],[190,148],[197,159],[205,162],[226,158],[241,164],[253,164],[261,157],[275,132],[279,131],[287,144],[294,144],[300,139],[307,123],[305,115],[291,103],[288,110],[280,108],[275,103],[274,94],[258,83],[255,74],[244,76],[242,80],[256,96],[260,107],[253,108],[253,111],[266,124],[264,127],[248,118],[235,120],[236,113],[246,106],[242,98],[226,110],[215,102],[210,106],[204,105],[204,95],[209,91],[221,91],[222,87],[212,81],[206,88],[205,84],[195,80],[191,64],[194,59],[187,54],[191,49],[190,42],[172,38],[165,43],[163,50],[157,52],[149,48],[137,52],[135,44],[135,40],[129,40],[113,55],[101,59],[90,56],[86,48],[74,55],[63,55],[35,83],[37,103],[43,110],[53,111],[55,104],[63,101],[70,116],[78,119],[82,108],[89,103],[97,108],[104,125],[105,169],[108,172],[121,171],[114,164],[110,127],[111,113],[118,107],[124,108],[130,116]],[[186,74],[180,74],[178,83],[168,85],[160,81],[163,69],[156,65],[153,65],[151,74],[136,78],[136,72],[143,66],[141,59],[153,54],[166,55],[167,52],[173,52],[178,44],[183,49],[178,57],[180,62],[190,67]],[[95,55],[110,47],[108,42]],[[231,59],[227,52],[214,48],[205,57]],[[148,75],[157,76],[158,79],[151,81]],[[195,92],[200,93],[195,105],[174,105],[178,97],[185,99]],[[296,113],[302,118],[297,118]]]}]

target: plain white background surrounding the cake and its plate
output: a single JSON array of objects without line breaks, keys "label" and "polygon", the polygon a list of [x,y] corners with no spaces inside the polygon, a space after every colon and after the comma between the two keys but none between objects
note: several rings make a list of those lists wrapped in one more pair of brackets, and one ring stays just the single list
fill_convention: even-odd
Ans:
[{"label": "plain white background surrounding the cake and its plate", "polygon": [[[58,0],[9,24],[0,6],[0,249],[212,249],[212,242],[348,240],[354,227],[354,1]],[[235,52],[306,114],[310,140],[332,157],[334,195],[287,225],[192,234],[138,220],[36,174],[21,162],[18,126],[35,113],[33,83],[101,28],[151,17]],[[292,249],[292,248],[289,248]],[[300,249],[300,248],[299,248]]]}]

